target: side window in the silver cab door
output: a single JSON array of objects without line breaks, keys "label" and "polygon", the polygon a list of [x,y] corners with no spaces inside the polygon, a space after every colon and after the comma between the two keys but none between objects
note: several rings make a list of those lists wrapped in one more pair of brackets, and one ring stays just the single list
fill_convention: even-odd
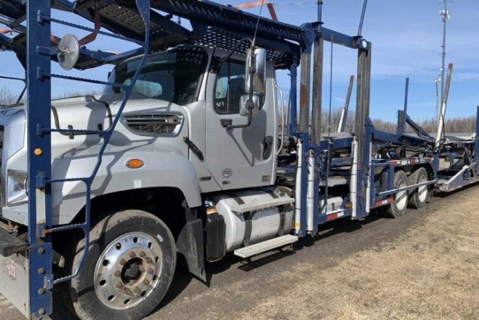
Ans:
[{"label": "side window in the silver cab door", "polygon": [[239,113],[239,99],[244,94],[244,64],[223,62],[216,79],[215,111],[220,114]]}]

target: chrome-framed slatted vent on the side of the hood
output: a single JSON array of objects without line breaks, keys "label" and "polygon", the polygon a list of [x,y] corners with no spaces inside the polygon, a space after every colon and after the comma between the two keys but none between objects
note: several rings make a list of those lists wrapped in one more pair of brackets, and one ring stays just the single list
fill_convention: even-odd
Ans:
[{"label": "chrome-framed slatted vent on the side of the hood", "polygon": [[127,113],[122,122],[141,135],[177,135],[183,123],[179,113]]}]

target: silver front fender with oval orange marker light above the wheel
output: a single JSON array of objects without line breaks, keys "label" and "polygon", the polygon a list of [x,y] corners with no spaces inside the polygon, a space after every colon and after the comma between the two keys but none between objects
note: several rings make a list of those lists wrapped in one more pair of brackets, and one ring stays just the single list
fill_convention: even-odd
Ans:
[{"label": "silver front fender with oval orange marker light above the wheel", "polygon": [[[128,168],[126,162],[133,158],[141,159],[143,167]],[[52,165],[53,178],[87,177],[91,175],[96,161],[95,147],[89,147],[76,156],[57,158]],[[188,207],[201,206],[197,173],[190,160],[172,149],[162,149],[152,144],[129,146],[127,151],[125,147],[109,147],[93,180],[91,198],[151,187],[175,187],[183,193]],[[86,187],[81,181],[53,185],[53,224],[70,223],[75,218],[84,207],[85,191]]]}]

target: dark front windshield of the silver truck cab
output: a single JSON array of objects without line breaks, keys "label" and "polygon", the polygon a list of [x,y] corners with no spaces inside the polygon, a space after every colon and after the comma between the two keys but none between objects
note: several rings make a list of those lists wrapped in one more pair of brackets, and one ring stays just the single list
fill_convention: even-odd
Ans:
[{"label": "dark front windshield of the silver truck cab", "polygon": [[[141,59],[118,64],[109,82],[131,84]],[[206,68],[208,55],[202,48],[178,48],[147,58],[132,93],[181,106],[193,102],[199,78]],[[105,93],[123,93],[124,89],[107,86]]]}]

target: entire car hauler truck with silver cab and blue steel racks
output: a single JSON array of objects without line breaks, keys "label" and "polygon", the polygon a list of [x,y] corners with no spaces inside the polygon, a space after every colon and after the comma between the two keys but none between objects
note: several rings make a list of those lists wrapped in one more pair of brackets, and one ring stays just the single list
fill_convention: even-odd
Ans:
[{"label": "entire car hauler truck with silver cab and blue steel racks", "polygon": [[[56,19],[53,9],[94,27]],[[407,104],[397,133],[372,126],[372,44],[361,27],[348,36],[320,21],[291,26],[197,0],[0,0],[0,23],[12,30],[0,35],[1,48],[26,73],[26,106],[19,99],[0,115],[0,292],[28,318],[51,314],[53,287],[62,285],[82,319],[140,319],[167,292],[177,254],[205,280],[205,262],[227,252],[248,258],[372,209],[401,216],[435,188],[477,179],[477,133],[446,140],[440,126],[433,138]],[[91,35],[60,39],[53,23]],[[89,50],[96,35],[138,48]],[[320,132],[325,41],[358,53],[354,133]],[[52,73],[52,61],[85,73],[114,69],[107,81],[80,78]],[[277,156],[282,68],[291,76],[296,156]],[[105,92],[51,100],[53,78]]]}]

